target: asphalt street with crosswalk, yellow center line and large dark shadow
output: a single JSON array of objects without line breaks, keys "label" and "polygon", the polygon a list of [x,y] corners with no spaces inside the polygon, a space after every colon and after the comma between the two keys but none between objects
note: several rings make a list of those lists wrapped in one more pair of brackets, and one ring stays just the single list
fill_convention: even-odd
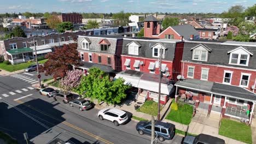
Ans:
[{"label": "asphalt street with crosswalk, yellow center line and large dark shadow", "polygon": [[[47,143],[55,137],[69,143],[150,143],[150,136],[137,133],[136,122],[115,127],[112,122],[98,119],[95,108],[79,111],[39,95],[22,76],[0,77],[0,130],[20,143],[26,143],[23,133],[28,134],[30,143]],[[162,143],[181,143],[181,140],[176,135]]]}]

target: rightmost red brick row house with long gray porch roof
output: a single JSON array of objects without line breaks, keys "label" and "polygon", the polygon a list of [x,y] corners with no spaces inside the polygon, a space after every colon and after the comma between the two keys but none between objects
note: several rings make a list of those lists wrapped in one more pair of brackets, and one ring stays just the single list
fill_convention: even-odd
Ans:
[{"label": "rightmost red brick row house with long gray porch roof", "polygon": [[[223,117],[251,123],[256,102],[255,43],[238,41],[185,41],[181,61],[184,80],[176,94],[193,94],[196,106]],[[177,98],[177,96],[176,96]]]}]

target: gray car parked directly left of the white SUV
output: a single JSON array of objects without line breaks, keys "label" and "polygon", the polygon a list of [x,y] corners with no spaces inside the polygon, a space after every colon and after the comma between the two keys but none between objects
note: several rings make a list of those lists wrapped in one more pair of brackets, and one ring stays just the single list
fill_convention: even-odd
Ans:
[{"label": "gray car parked directly left of the white SUV", "polygon": [[77,107],[80,111],[83,110],[88,110],[92,107],[91,101],[90,100],[85,100],[85,99],[77,99],[74,101],[69,101],[69,105],[71,107]]}]

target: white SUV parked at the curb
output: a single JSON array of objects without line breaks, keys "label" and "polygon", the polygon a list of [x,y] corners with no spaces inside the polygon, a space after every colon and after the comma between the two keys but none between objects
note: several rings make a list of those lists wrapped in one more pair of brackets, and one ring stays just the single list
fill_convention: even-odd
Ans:
[{"label": "white SUV parked at the curb", "polygon": [[118,109],[102,109],[98,112],[98,118],[101,120],[107,119],[113,122],[115,126],[125,123],[128,121],[128,115],[125,111]]}]

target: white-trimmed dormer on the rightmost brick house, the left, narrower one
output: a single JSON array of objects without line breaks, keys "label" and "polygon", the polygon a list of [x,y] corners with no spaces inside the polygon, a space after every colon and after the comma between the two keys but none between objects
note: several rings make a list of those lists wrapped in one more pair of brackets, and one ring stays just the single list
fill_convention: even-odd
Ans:
[{"label": "white-trimmed dormer on the rightmost brick house, the left, narrower one", "polygon": [[190,50],[193,50],[193,56],[192,56],[193,60],[205,61],[205,62],[208,59],[208,52],[212,51],[208,46],[202,45],[202,44],[197,45]]}]

